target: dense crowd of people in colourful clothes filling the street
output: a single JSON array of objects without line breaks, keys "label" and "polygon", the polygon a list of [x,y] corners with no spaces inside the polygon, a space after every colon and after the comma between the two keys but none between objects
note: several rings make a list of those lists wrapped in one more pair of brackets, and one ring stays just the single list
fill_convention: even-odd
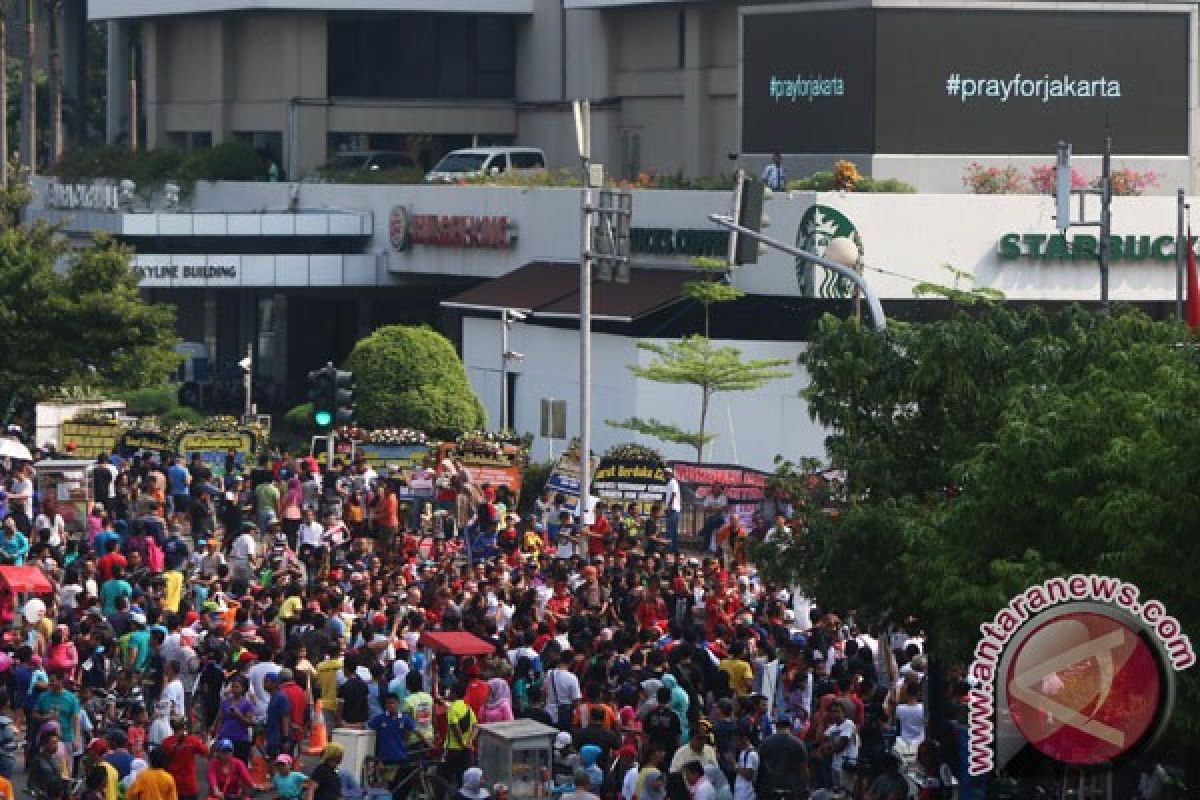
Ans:
[{"label": "dense crowd of people in colourful clothes filling the street", "polygon": [[[0,595],[0,796],[19,769],[40,796],[86,800],[332,800],[372,781],[404,796],[428,770],[445,796],[504,800],[476,746],[512,718],[558,729],[539,796],[953,787],[925,734],[920,640],[748,564],[738,545],[786,531],[784,503],[745,528],[713,504],[690,553],[673,480],[653,509],[581,519],[548,493],[518,513],[452,459],[418,480],[278,455],[216,471],[102,456],[72,530],[28,464],[5,465],[0,563],[41,567],[54,593]],[[433,631],[492,655],[433,658]],[[368,786],[341,746],[314,748],[320,726],[374,730]]]}]

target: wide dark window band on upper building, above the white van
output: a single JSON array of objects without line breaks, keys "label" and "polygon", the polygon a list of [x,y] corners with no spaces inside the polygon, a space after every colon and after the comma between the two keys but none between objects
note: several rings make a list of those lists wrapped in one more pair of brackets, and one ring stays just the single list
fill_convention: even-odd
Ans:
[{"label": "wide dark window band on upper building, above the white van", "polygon": [[331,13],[334,97],[516,96],[516,30],[505,14]]}]

